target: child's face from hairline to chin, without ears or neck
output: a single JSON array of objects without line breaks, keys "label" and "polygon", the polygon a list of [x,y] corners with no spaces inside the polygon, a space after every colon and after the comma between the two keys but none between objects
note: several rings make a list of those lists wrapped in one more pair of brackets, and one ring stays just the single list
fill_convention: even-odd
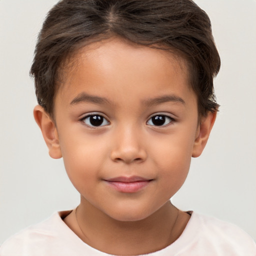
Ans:
[{"label": "child's face from hairline to chin, without ears or neck", "polygon": [[[143,219],[183,184],[196,147],[186,68],[170,53],[118,39],[92,43],[76,57],[55,99],[67,174],[101,212]],[[121,182],[127,177],[140,182]]]}]

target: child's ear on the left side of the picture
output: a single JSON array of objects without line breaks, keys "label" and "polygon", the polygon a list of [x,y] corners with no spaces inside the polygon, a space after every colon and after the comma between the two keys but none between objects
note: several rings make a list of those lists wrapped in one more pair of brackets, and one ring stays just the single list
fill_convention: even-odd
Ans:
[{"label": "child's ear on the left side of the picture", "polygon": [[49,149],[49,155],[52,158],[60,158],[62,156],[56,125],[49,115],[44,111],[43,107],[36,105],[34,107],[34,119],[41,129],[42,136]]}]

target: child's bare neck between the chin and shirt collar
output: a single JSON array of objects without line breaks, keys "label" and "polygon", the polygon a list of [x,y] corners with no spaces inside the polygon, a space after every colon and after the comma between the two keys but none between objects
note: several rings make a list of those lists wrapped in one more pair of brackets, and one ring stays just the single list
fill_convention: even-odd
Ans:
[{"label": "child's bare neck between the chin and shirt collar", "polygon": [[150,216],[136,221],[111,218],[81,197],[76,211],[80,232],[88,245],[115,255],[145,254],[160,250],[178,238],[181,212],[167,201]]}]

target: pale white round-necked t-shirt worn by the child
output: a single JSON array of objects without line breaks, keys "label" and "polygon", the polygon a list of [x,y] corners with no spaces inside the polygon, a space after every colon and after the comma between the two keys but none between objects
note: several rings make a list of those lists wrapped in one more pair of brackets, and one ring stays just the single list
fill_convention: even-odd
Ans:
[{"label": "pale white round-necked t-shirt worn by the child", "polygon": [[[84,243],[62,220],[68,211],[52,214],[41,223],[16,233],[0,246],[0,256],[106,256]],[[256,256],[256,244],[237,226],[189,212],[179,238],[147,256]]]}]

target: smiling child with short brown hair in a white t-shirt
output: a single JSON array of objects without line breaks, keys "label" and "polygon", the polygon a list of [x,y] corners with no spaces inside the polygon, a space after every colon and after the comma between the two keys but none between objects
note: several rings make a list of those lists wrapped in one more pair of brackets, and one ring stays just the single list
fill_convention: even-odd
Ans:
[{"label": "smiling child with short brown hair in a white t-shirt", "polygon": [[190,0],[62,0],[31,74],[34,117],[81,195],[14,235],[0,255],[255,255],[239,228],[169,198],[202,152],[220,60]]}]

